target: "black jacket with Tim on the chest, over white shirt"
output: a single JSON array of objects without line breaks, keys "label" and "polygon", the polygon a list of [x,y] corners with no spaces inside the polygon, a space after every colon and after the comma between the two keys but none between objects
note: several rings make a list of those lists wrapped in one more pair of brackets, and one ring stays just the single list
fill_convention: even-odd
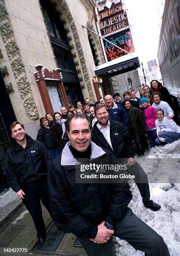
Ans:
[{"label": "black jacket with Tim on the chest, over white shirt", "polygon": [[110,144],[97,127],[97,122],[92,128],[92,141],[98,146],[111,151],[116,158],[129,158],[135,156],[135,148],[127,128],[122,123],[110,120]]}]

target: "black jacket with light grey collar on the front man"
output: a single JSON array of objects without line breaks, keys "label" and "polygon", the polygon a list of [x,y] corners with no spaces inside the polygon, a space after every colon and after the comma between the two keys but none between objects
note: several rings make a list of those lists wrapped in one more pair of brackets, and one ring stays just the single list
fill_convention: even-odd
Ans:
[{"label": "black jacket with light grey collar on the front man", "polygon": [[[113,159],[110,152],[91,142],[99,158]],[[95,238],[103,220],[111,225],[122,219],[132,198],[129,185],[75,182],[75,159],[67,143],[53,162],[48,176],[52,218],[57,227],[79,237]],[[92,152],[94,149],[92,149]],[[100,154],[103,152],[103,155]],[[97,157],[91,158],[97,159]]]}]

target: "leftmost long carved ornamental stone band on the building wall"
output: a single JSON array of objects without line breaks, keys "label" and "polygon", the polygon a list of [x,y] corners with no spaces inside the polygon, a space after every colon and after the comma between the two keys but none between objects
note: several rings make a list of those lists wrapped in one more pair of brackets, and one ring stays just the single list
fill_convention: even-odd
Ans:
[{"label": "leftmost long carved ornamental stone band on the building wall", "polygon": [[[2,41],[5,45],[6,53],[10,61],[11,68],[13,70],[15,80],[18,84],[18,91],[23,101],[25,113],[30,120],[32,121],[37,120],[38,119],[37,108],[32,98],[30,84],[27,82],[25,67],[20,58],[20,52],[16,45],[13,31],[10,26],[10,21],[9,21],[7,12],[5,10],[4,0],[0,0],[0,34],[2,37]],[[7,84],[6,90],[9,90],[9,92],[12,92],[11,86],[12,84],[11,85]]]}]

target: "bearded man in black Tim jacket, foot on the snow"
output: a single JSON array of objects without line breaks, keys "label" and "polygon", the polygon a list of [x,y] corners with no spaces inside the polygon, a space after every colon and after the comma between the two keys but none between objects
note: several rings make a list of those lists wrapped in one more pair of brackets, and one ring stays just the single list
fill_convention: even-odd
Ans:
[{"label": "bearded man in black Tim jacket, foot on the snow", "polygon": [[[105,106],[97,106],[95,108],[95,115],[97,122],[92,129],[92,141],[98,146],[111,151],[116,158],[124,159],[123,161],[126,161],[128,158],[130,167],[126,172],[136,174],[134,180],[143,197],[143,204],[153,211],[160,210],[160,205],[150,200],[148,178],[141,166],[134,159],[135,149],[125,125],[110,120]],[[145,183],[142,183],[142,181]]]}]

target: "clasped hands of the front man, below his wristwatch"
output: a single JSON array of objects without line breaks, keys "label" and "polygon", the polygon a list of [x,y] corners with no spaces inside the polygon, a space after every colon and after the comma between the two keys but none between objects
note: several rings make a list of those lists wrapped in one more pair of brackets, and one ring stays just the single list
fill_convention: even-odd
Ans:
[{"label": "clasped hands of the front man, below his wristwatch", "polygon": [[107,241],[110,239],[112,234],[114,234],[114,230],[107,229],[104,224],[105,224],[105,221],[102,221],[102,223],[100,223],[97,226],[98,228],[97,235],[95,239],[89,238],[90,241],[98,244],[107,243]]}]

